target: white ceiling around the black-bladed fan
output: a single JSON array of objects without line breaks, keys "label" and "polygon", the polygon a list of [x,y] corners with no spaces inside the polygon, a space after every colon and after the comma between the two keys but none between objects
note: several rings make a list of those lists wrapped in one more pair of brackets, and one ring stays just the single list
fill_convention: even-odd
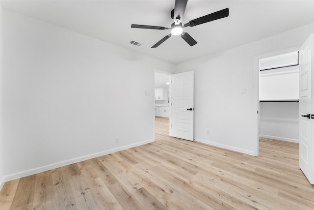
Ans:
[{"label": "white ceiling around the black-bladed fan", "polygon": [[[174,64],[223,51],[314,22],[314,0],[189,0],[183,24],[229,8],[229,17],[184,28],[190,47],[169,30],[131,29],[131,24],[170,27],[175,0],[1,0],[2,7]],[[140,47],[131,45],[135,40]]]}]

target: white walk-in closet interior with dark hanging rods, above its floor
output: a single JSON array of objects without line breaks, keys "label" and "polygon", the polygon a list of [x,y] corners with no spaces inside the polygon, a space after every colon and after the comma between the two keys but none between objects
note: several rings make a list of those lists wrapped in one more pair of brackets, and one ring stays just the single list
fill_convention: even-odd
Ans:
[{"label": "white walk-in closet interior with dark hanging rods, above its floor", "polygon": [[299,55],[259,60],[260,137],[299,139]]}]

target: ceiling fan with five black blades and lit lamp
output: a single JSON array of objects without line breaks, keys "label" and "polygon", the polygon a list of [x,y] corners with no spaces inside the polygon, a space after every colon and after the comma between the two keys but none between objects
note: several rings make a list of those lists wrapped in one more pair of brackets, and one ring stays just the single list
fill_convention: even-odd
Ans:
[{"label": "ceiling fan with five black blades and lit lamp", "polygon": [[170,28],[160,27],[160,26],[146,26],[146,25],[136,25],[132,24],[131,28],[136,29],[155,29],[155,30],[171,30],[171,33],[160,39],[152,48],[158,47],[161,43],[166,41],[171,35],[180,35],[190,46],[197,44],[188,33],[183,32],[183,28],[185,27],[193,27],[203,23],[207,23],[210,21],[218,20],[221,18],[225,18],[229,16],[229,8],[219,10],[217,12],[205,15],[200,18],[196,18],[194,20],[189,21],[188,23],[182,25],[183,15],[185,11],[187,0],[176,0],[175,8],[171,11],[171,18],[174,20],[174,23],[171,25]]}]

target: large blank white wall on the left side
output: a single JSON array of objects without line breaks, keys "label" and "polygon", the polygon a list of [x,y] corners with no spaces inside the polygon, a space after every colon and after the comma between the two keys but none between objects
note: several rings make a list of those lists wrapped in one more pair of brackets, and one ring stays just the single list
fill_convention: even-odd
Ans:
[{"label": "large blank white wall on the left side", "polygon": [[154,68],[172,64],[6,10],[3,39],[5,180],[154,140]]}]

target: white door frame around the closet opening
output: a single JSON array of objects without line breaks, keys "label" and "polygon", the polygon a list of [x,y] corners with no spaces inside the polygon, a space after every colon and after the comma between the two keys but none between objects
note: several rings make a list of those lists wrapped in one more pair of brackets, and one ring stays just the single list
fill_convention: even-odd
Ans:
[{"label": "white door frame around the closet opening", "polygon": [[260,56],[257,56],[254,58],[254,107],[256,107],[256,112],[258,111],[258,114],[256,113],[256,115],[254,115],[254,136],[255,138],[255,151],[254,151],[254,155],[255,156],[259,156],[259,143],[260,143],[260,123],[261,123],[261,113],[260,113],[260,100],[259,100],[259,75],[260,75],[260,69],[259,69],[259,60],[260,59],[264,59],[264,58],[268,58],[268,57],[272,57],[272,56],[278,56],[278,55],[282,55],[282,54],[286,54],[286,53],[291,53],[291,52],[295,52],[298,51],[299,47],[293,47],[293,48],[288,48],[285,50],[281,50],[281,51],[276,51],[276,52],[272,52],[272,53],[267,53],[267,54],[263,54]]}]

